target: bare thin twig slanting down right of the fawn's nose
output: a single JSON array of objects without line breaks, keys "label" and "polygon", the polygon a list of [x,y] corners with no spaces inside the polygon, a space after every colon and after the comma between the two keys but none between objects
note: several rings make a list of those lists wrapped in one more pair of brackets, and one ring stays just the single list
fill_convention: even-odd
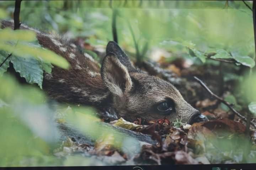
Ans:
[{"label": "bare thin twig slanting down right of the fawn's nose", "polygon": [[[230,104],[229,102],[223,100],[223,98],[221,98],[221,97],[215,95],[215,94],[203,83],[203,81],[200,80],[199,78],[197,78],[196,76],[194,76],[194,79],[196,79],[196,80],[198,81],[198,83],[200,83],[200,84],[204,87],[204,89],[206,89],[206,90],[209,92],[210,95],[212,95],[213,97],[215,97],[216,99],[218,99],[220,102],[222,102],[223,104],[225,104],[226,106],[228,106],[228,108],[229,108],[232,112],[234,112],[236,115],[238,115],[240,118],[242,118],[242,120],[244,120],[245,122],[247,122],[247,118],[244,117],[243,115],[241,115],[239,112],[237,112],[237,111],[232,107],[233,104]],[[250,122],[251,122],[251,125],[254,126],[254,128],[256,129],[256,125],[255,125],[252,121],[250,121]]]}]

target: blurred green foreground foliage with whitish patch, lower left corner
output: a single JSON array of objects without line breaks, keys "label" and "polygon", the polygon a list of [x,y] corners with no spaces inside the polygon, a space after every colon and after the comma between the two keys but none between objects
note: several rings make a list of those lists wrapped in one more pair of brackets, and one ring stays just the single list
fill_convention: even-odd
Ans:
[{"label": "blurred green foreground foliage with whitish patch, lower left corner", "polygon": [[0,166],[46,165],[42,160],[49,156],[58,134],[53,119],[49,119],[52,111],[43,105],[44,95],[19,86],[9,76],[0,81],[0,101],[8,103],[0,107],[0,157],[4,158]]}]

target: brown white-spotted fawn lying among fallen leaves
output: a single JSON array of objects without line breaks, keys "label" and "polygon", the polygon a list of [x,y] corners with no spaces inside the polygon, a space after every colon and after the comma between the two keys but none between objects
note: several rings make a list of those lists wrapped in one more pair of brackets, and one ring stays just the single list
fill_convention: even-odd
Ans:
[{"label": "brown white-spotted fawn lying among fallen leaves", "polygon": [[[13,23],[2,21],[2,27],[13,27]],[[112,107],[119,117],[130,121],[166,117],[170,121],[182,118],[183,122],[192,124],[207,119],[188,104],[172,84],[135,68],[113,41],[106,47],[107,55],[100,68],[75,44],[23,24],[20,29],[34,30],[39,44],[71,64],[68,70],[54,67],[51,74],[44,73],[43,90],[49,98],[98,110]]]}]

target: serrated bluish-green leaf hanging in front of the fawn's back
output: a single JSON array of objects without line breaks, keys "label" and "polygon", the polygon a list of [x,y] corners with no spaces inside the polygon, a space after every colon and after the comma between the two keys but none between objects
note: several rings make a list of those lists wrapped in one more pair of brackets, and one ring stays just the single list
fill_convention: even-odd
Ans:
[{"label": "serrated bluish-green leaf hanging in front of the fawn's back", "polygon": [[22,58],[12,55],[11,62],[16,72],[20,73],[29,84],[36,83],[42,89],[43,68],[34,58]]}]

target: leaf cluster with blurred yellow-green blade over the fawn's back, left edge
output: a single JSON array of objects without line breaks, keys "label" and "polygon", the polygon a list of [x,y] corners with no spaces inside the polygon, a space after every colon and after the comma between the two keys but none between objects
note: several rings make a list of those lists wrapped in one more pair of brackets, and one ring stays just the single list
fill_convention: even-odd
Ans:
[{"label": "leaf cluster with blurred yellow-green blade over the fawn's back, left edge", "polygon": [[27,83],[36,83],[42,89],[43,70],[50,73],[53,67],[50,63],[68,68],[69,63],[59,55],[44,49],[36,40],[36,34],[30,30],[0,30],[0,62],[11,53],[11,57],[0,67],[0,76],[9,67],[9,61],[14,64],[16,72],[24,77]]}]

